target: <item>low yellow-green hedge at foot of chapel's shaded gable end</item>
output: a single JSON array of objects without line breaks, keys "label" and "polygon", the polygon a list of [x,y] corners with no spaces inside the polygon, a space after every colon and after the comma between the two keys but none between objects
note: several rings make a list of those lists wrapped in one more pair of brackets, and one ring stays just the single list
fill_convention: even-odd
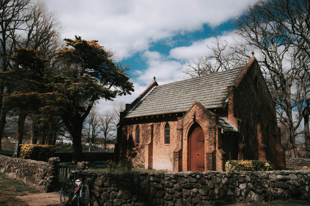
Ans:
[{"label": "low yellow-green hedge at foot of chapel's shaded gable end", "polygon": [[228,160],[225,164],[225,170],[232,171],[270,171],[273,165],[270,161],[259,160]]}]

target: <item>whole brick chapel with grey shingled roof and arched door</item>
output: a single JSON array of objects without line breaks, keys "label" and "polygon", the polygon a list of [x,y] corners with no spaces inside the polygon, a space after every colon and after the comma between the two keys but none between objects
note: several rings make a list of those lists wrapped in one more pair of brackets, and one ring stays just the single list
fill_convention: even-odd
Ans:
[{"label": "whole brick chapel with grey shingled roof and arched door", "polygon": [[239,159],[285,169],[275,106],[255,57],[170,84],[154,78],[121,112],[114,155],[156,170],[219,171]]}]

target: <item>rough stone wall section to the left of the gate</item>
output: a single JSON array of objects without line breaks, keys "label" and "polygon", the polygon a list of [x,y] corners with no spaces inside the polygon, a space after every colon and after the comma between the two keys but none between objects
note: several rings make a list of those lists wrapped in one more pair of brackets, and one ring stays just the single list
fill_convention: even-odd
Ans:
[{"label": "rough stone wall section to the left of the gate", "polygon": [[54,191],[55,165],[59,159],[53,157],[49,162],[25,160],[0,155],[0,172],[36,187],[42,192]]}]

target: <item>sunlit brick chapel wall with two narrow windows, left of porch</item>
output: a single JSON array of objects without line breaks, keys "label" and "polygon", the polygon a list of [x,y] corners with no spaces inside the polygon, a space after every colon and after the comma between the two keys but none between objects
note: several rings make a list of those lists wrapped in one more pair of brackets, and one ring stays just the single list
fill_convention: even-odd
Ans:
[{"label": "sunlit brick chapel wall with two narrow windows, left of porch", "polygon": [[[140,127],[140,143],[134,144],[133,148],[137,153],[133,158],[135,166],[156,170],[174,170],[173,152],[180,144],[177,141],[177,118],[182,114],[171,115],[135,118],[123,127],[127,136],[132,136],[133,140],[135,140],[136,126]],[[165,125],[167,123],[170,125],[170,144],[165,144]]]}]

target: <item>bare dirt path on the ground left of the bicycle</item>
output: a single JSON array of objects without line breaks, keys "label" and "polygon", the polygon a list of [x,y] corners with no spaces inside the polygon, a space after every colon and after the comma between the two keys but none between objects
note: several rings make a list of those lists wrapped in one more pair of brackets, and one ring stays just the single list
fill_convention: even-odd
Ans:
[{"label": "bare dirt path on the ground left of the bicycle", "polygon": [[33,195],[17,196],[18,199],[23,200],[29,206],[46,206],[59,204],[59,192],[39,193]]}]

